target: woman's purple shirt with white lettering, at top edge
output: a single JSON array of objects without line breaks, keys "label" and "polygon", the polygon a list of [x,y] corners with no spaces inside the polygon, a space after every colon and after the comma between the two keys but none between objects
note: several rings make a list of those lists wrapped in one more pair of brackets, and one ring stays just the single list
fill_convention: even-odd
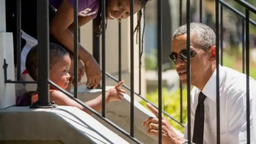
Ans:
[{"label": "woman's purple shirt with white lettering, at top edge", "polygon": [[[71,7],[74,6],[74,0],[67,0]],[[63,0],[49,0],[56,9],[59,8]],[[91,16],[96,18],[99,10],[99,0],[77,0],[78,16]]]}]

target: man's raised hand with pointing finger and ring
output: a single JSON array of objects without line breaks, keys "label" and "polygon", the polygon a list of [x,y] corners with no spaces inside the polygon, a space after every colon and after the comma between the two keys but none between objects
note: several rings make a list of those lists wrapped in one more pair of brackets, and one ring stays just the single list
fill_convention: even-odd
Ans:
[{"label": "man's raised hand with pointing finger and ring", "polygon": [[[153,107],[150,103],[147,103],[148,109],[156,115],[155,117],[149,117],[144,121],[142,126],[147,127],[147,133],[153,134],[158,137],[158,110]],[[183,138],[179,137],[173,130],[172,126],[169,124],[167,119],[162,116],[162,142],[163,144],[182,144]]]}]

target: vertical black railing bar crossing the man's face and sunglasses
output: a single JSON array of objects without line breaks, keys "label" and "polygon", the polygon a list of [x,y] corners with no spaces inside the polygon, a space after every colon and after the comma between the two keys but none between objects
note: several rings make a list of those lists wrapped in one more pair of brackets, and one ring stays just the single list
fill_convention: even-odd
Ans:
[{"label": "vertical black railing bar crossing the man's face and sunglasses", "polygon": [[190,0],[187,0],[186,23],[187,23],[187,109],[188,109],[188,143],[191,144],[191,109],[190,109]]}]

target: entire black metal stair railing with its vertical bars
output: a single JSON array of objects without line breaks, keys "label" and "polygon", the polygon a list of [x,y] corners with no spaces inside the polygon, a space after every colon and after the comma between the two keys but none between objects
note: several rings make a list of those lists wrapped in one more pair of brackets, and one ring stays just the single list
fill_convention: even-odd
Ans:
[{"label": "entire black metal stair railing with its vertical bars", "polygon": [[[223,7],[226,7],[230,11],[234,12],[236,15],[242,18],[242,65],[243,65],[243,73],[246,73],[246,104],[247,104],[247,143],[250,144],[250,110],[249,110],[249,24],[252,24],[256,26],[256,22],[253,21],[252,19],[249,19],[249,12],[255,13],[256,14],[256,7],[252,6],[251,4],[247,3],[244,0],[234,0],[238,4],[242,5],[245,9],[245,14],[242,12],[236,10],[234,7],[232,7],[230,4],[223,0],[216,0],[215,2],[215,19],[216,19],[216,69],[217,69],[217,79],[216,79],[216,92],[217,92],[217,97],[216,97],[216,111],[217,111],[217,143],[220,144],[220,91],[219,91],[219,64],[223,65]],[[162,110],[162,8],[161,8],[161,0],[157,0],[157,60],[158,60],[158,106],[153,105],[156,108],[159,109],[159,143],[162,143],[162,113],[170,117],[172,120],[180,124],[181,126],[184,127],[183,125],[183,119],[182,119],[182,84],[180,83],[180,121],[176,120],[169,114],[167,114],[164,110]],[[86,109],[90,110],[93,114],[96,116],[100,117],[102,120],[107,122],[109,125],[113,126],[116,128],[119,132],[123,133],[125,136],[133,140],[135,143],[142,143],[138,139],[135,138],[134,136],[134,95],[138,95],[140,98],[142,98],[144,101],[149,102],[147,99],[141,96],[141,89],[139,89],[139,93],[134,91],[134,46],[133,46],[133,15],[130,16],[130,54],[131,54],[131,86],[128,87],[127,85],[123,85],[125,88],[129,89],[131,92],[131,127],[130,127],[130,133],[124,131],[122,128],[120,128],[118,125],[114,124],[112,121],[110,121],[108,118],[106,118],[106,109],[105,109],[105,101],[102,101],[102,114],[98,113],[97,111],[93,110],[90,108],[88,105],[86,105],[84,102],[80,101],[77,98],[77,83],[78,83],[78,40],[79,40],[79,31],[78,31],[78,12],[77,12],[77,0],[74,0],[74,95],[68,93],[55,83],[53,83],[51,80],[49,80],[49,2],[43,1],[43,0],[38,0],[37,1],[37,26],[38,26],[38,81],[40,82],[34,82],[34,81],[20,81],[20,53],[21,53],[21,36],[18,33],[17,34],[17,81],[11,81],[7,80],[7,68],[8,64],[6,64],[6,61],[4,61],[4,75],[5,75],[5,83],[37,83],[38,87],[38,102],[36,104],[33,104],[31,108],[52,108],[55,107],[56,105],[54,103],[51,103],[49,100],[49,85],[52,85],[53,87],[56,87],[59,89],[61,92],[66,94],[68,97],[85,107]],[[220,4],[220,9],[219,9],[219,4]],[[134,1],[130,0],[130,13],[133,13],[134,11]],[[119,23],[118,25],[118,34],[119,34],[119,39],[118,39],[118,60],[119,60],[119,67],[118,67],[118,78],[115,78],[108,72],[106,72],[106,64],[105,64],[105,37],[106,37],[106,27],[105,27],[105,6],[106,2],[105,0],[101,0],[101,21],[102,21],[102,34],[101,34],[101,62],[100,62],[100,44],[99,44],[99,38],[96,36],[95,33],[93,33],[93,56],[95,57],[96,61],[101,63],[101,69],[102,69],[102,99],[105,100],[105,90],[106,90],[106,76],[110,77],[111,79],[115,80],[116,82],[120,81],[122,78],[121,75],[121,24]],[[17,32],[21,32],[21,0],[17,0]],[[203,1],[200,0],[199,3],[199,11],[200,11],[200,22],[203,22]],[[220,12],[220,18],[219,18],[219,12]],[[180,0],[180,25],[182,25],[182,0]],[[186,4],[186,23],[187,23],[187,109],[188,109],[188,140],[191,140],[191,124],[190,124],[190,0],[187,0]],[[139,38],[141,40],[141,32],[139,31]],[[142,38],[143,39],[143,38]],[[139,47],[141,48],[142,45],[139,43]],[[139,51],[141,52],[141,51]],[[220,54],[220,55],[219,55]],[[139,62],[140,63],[140,62]],[[140,63],[141,64],[141,63]],[[141,67],[139,67],[139,77],[141,76]],[[141,81],[139,81],[139,85],[141,85]],[[190,143],[190,141],[188,142]]]}]

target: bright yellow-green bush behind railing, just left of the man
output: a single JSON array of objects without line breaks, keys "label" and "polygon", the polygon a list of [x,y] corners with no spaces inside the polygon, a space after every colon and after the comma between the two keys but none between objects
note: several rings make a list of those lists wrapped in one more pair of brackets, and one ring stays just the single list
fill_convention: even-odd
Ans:
[{"label": "bright yellow-green bush behind railing, just left of the man", "polygon": [[[187,122],[187,89],[182,90],[182,119],[183,123]],[[162,110],[166,111],[170,116],[174,117],[176,120],[180,121],[180,89],[176,91],[168,91],[166,88],[163,88],[163,107]],[[146,98],[155,105],[158,105],[158,91],[150,93],[146,96]],[[141,104],[145,107],[146,102],[143,101]],[[177,122],[173,121],[171,118],[165,116],[171,125],[179,130],[180,132],[184,133],[184,128],[178,124]]]}]

